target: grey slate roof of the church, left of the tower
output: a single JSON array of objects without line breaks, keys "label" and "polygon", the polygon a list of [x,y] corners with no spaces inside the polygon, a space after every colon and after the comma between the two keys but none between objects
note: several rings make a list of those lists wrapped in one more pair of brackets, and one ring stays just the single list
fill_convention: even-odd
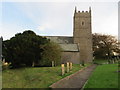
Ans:
[{"label": "grey slate roof of the church, left of the tower", "polygon": [[78,52],[79,47],[78,44],[73,43],[73,37],[68,36],[46,36],[48,39],[50,39],[53,42],[58,43],[63,51],[67,52]]}]

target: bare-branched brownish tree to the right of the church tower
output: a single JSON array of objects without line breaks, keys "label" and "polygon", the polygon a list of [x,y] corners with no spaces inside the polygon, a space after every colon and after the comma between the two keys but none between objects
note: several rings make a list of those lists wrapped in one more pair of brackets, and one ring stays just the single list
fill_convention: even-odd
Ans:
[{"label": "bare-branched brownish tree to the right of the church tower", "polygon": [[95,58],[111,57],[113,52],[117,51],[119,51],[118,41],[114,36],[93,34],[93,55]]}]

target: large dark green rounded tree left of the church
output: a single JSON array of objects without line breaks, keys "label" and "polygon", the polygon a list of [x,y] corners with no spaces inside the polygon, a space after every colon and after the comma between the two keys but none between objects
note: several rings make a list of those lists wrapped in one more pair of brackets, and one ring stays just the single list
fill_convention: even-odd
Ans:
[{"label": "large dark green rounded tree left of the church", "polygon": [[41,60],[43,45],[50,41],[36,35],[33,31],[18,33],[10,40],[3,41],[3,58],[6,62],[11,62],[13,68],[22,65],[32,66]]}]

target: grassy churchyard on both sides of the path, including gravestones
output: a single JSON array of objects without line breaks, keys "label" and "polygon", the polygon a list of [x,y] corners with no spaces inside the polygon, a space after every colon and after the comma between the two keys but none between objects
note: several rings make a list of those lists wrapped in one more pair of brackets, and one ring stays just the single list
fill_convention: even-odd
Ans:
[{"label": "grassy churchyard on both sides of the path, including gravestones", "polygon": [[[98,64],[83,88],[118,88],[118,62],[95,60]],[[49,88],[53,83],[91,64],[61,64],[56,67],[24,67],[6,69],[2,73],[3,88]],[[64,67],[63,67],[64,66]],[[68,67],[69,66],[69,70]],[[63,70],[64,68],[64,70]],[[64,73],[62,73],[64,72]]]}]

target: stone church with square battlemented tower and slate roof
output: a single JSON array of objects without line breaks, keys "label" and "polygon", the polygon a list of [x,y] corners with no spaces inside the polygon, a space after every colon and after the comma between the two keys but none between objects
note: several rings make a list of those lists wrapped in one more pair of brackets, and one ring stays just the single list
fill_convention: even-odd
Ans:
[{"label": "stone church with square battlemented tower and slate roof", "polygon": [[91,63],[93,59],[91,8],[89,8],[89,11],[77,11],[75,7],[73,37],[47,36],[47,38],[58,43],[63,49],[61,57],[62,63]]}]

